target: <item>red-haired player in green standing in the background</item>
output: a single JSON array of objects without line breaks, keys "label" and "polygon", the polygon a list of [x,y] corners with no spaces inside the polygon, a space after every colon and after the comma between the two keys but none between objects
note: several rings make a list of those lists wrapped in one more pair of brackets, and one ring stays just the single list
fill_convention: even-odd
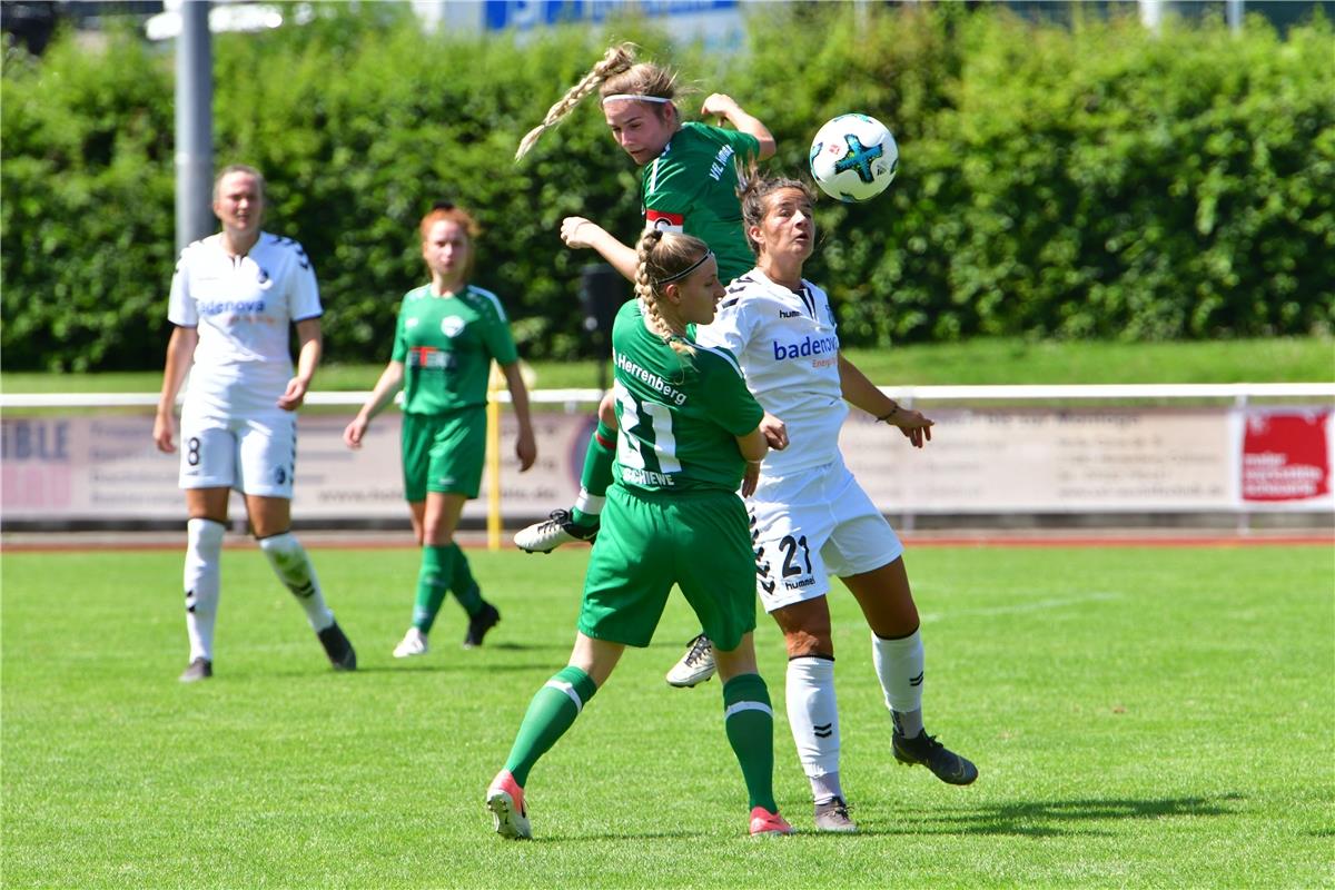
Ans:
[{"label": "red-haired player in green standing in the background", "polygon": [[481,644],[501,620],[497,607],[482,599],[469,560],[454,543],[463,502],[478,496],[482,482],[493,359],[505,374],[519,420],[515,455],[521,471],[533,466],[538,452],[505,310],[495,294],[469,283],[477,224],[462,208],[438,204],[422,219],[421,232],[431,283],[403,296],[390,363],[343,431],[348,447],[359,447],[371,419],[403,390],[403,492],[422,547],[422,568],[413,624],[394,648],[395,658],[427,651],[427,635],[447,591],[469,614],[466,647]]}]

